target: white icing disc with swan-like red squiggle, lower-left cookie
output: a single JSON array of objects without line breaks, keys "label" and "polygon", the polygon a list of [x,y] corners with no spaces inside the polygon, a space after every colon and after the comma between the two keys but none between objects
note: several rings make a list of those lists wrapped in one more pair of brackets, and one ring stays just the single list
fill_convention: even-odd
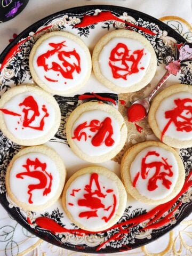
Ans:
[{"label": "white icing disc with swan-like red squiggle, lower-left cookie", "polygon": [[[35,161],[36,158],[41,162],[40,164],[38,164],[38,161],[36,162],[38,166],[34,166],[33,162],[30,162],[31,165],[27,164],[29,163],[27,159]],[[41,167],[41,164],[43,164],[43,167]],[[26,167],[23,165],[26,165]],[[27,167],[29,167],[29,171]],[[44,169],[44,171],[42,169]],[[20,178],[17,178],[17,175],[19,175]],[[30,177],[29,175],[33,175],[34,177]],[[39,177],[39,179],[35,177]],[[10,171],[9,182],[10,189],[18,201],[29,204],[31,194],[31,201],[33,203],[30,205],[41,205],[45,204],[57,193],[59,172],[50,157],[41,153],[29,153],[15,160]],[[38,184],[40,185],[38,186]],[[30,189],[32,190],[29,191]]]}]

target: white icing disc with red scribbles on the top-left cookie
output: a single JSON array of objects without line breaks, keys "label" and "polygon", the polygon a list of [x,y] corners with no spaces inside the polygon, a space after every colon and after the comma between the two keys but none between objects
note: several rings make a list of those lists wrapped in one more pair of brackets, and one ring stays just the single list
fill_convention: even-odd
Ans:
[{"label": "white icing disc with red scribbles on the top-left cookie", "polygon": [[[60,47],[56,46],[56,44],[62,42],[63,44]],[[49,44],[52,44],[52,46]],[[55,52],[56,47],[58,49],[57,52]],[[49,51],[50,57],[42,58],[45,61],[45,65],[47,65],[47,70],[45,70],[43,66],[37,65],[37,60],[47,51]],[[78,58],[80,64],[78,63]],[[52,36],[43,41],[36,49],[33,67],[38,77],[51,89],[55,91],[68,90],[82,83],[86,77],[88,71],[86,60],[84,49],[75,41],[64,36]],[[54,65],[57,65],[57,67],[53,68]],[[67,77],[70,71],[72,71],[72,77]]]}]

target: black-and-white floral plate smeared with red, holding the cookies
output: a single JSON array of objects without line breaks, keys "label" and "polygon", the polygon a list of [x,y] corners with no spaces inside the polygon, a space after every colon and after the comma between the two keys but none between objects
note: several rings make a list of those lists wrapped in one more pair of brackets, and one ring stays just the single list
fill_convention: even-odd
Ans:
[{"label": "black-and-white floral plate smeared with red, holding the cookies", "polygon": [[[98,21],[97,17],[101,13],[104,14],[102,17],[105,18],[102,21]],[[108,20],[106,18],[107,13],[113,14],[114,19]],[[92,15],[94,22],[86,27],[75,27],[75,25],[82,22],[85,15]],[[124,21],[128,23],[125,25]],[[100,100],[118,108],[126,120],[124,103],[129,105],[129,102],[145,97],[151,91],[152,87],[157,84],[159,78],[165,73],[165,61],[170,58],[174,44],[185,42],[185,39],[163,22],[147,14],[118,6],[90,5],[64,10],[34,23],[15,38],[0,56],[0,63],[2,63],[0,68],[0,93],[2,95],[12,86],[23,83],[33,84],[28,66],[29,53],[35,41],[43,34],[53,30],[69,31],[81,37],[92,51],[95,42],[108,31],[114,29],[138,31],[148,39],[157,54],[157,73],[150,84],[134,93],[117,95],[101,85],[92,74],[87,85],[78,91],[76,95],[69,95],[68,97],[54,95],[61,109],[61,126],[54,138],[47,142],[46,145],[58,151],[67,167],[68,177],[78,169],[90,165],[75,156],[67,144],[65,125],[71,111],[82,102]],[[153,31],[156,35],[147,34],[146,29]],[[174,83],[192,84],[190,69],[185,67],[182,74],[179,73],[177,77],[171,77],[165,86]],[[95,94],[91,94],[92,92]],[[81,94],[92,95],[94,98],[82,100],[79,97]],[[111,100],[108,101],[106,98],[111,98]],[[114,159],[101,164],[114,171],[117,175],[119,175],[119,163],[124,151],[135,143],[154,138],[147,119],[143,119],[138,123],[140,129],[135,127],[133,123],[127,122],[127,120],[126,123],[129,130],[129,139],[126,145]],[[175,198],[175,201],[171,204],[163,205],[165,212],[162,210],[163,208],[160,209],[158,206],[153,207],[140,203],[129,196],[126,210],[117,225],[95,234],[85,233],[73,223],[70,223],[65,212],[63,212],[61,199],[46,211],[41,212],[24,211],[11,202],[6,193],[5,173],[7,165],[20,148],[21,146],[16,145],[0,133],[0,202],[7,212],[23,227],[54,245],[69,250],[90,253],[126,251],[154,241],[154,239],[178,225],[191,212],[192,195],[191,190],[187,187],[189,183],[187,178],[189,178],[192,165],[192,148],[179,150],[186,170],[186,187],[185,189],[183,188],[181,197]],[[152,209],[153,214],[151,214]],[[160,213],[158,218],[154,214],[155,210],[156,213]],[[41,224],[37,221],[39,217],[43,217]],[[149,223],[149,219],[151,223]]]}]

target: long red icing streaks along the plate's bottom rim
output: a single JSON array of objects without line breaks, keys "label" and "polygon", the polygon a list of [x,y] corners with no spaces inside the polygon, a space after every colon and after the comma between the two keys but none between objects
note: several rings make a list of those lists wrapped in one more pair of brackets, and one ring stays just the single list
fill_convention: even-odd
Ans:
[{"label": "long red icing streaks along the plate's bottom rim", "polygon": [[[131,218],[129,220],[123,221],[121,223],[118,223],[114,225],[113,227],[110,227],[106,230],[102,230],[101,232],[116,229],[117,231],[113,233],[113,235],[110,236],[110,238],[106,239],[105,242],[101,243],[97,247],[97,251],[101,250],[107,243],[110,241],[114,241],[118,239],[121,241],[121,239],[124,238],[126,234],[129,234],[132,231],[132,228],[139,225],[143,221],[145,221],[145,227],[140,229],[147,230],[147,229],[158,229],[166,225],[166,223],[169,223],[171,220],[173,220],[174,212],[179,209],[181,206],[181,196],[187,192],[187,190],[192,186],[192,180],[190,180],[192,176],[192,171],[190,171],[187,179],[185,180],[185,183],[179,192],[177,196],[175,196],[171,201],[158,205],[154,207],[152,210],[150,210],[147,213],[144,213],[142,215],[139,215],[137,217]],[[179,202],[180,200],[180,202]],[[169,213],[168,213],[169,211]],[[163,217],[163,218],[162,218]],[[150,220],[149,220],[150,219]],[[148,221],[147,221],[148,220]],[[51,231],[53,234],[55,233],[69,233],[74,234],[77,236],[83,236],[83,234],[95,234],[94,231],[87,231],[83,229],[67,229],[65,227],[60,226],[57,222],[55,222],[52,219],[46,218],[46,217],[39,217],[35,219],[36,225],[39,227]],[[126,247],[127,250],[131,249],[130,247]]]}]

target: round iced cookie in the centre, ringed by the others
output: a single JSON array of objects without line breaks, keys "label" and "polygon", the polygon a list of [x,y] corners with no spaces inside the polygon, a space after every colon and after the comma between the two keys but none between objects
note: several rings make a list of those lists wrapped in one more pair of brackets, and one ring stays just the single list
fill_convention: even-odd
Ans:
[{"label": "round iced cookie in the centre, ringed by the others", "polygon": [[67,120],[66,132],[71,150],[92,163],[116,156],[127,137],[127,127],[119,111],[99,102],[78,106]]}]

